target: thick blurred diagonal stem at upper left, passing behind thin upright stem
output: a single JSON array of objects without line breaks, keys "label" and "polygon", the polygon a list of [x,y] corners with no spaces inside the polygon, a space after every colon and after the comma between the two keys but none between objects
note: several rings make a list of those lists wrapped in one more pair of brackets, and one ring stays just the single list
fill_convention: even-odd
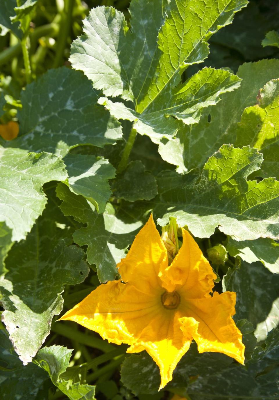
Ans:
[{"label": "thick blurred diagonal stem at upper left, passing behind thin upright stem", "polygon": [[[30,33],[30,40],[38,40],[42,36],[56,36],[59,27],[57,24],[47,24],[34,29],[34,32]],[[6,64],[12,58],[18,56],[22,49],[22,45],[18,42],[15,46],[8,47],[0,53],[0,66]]]}]

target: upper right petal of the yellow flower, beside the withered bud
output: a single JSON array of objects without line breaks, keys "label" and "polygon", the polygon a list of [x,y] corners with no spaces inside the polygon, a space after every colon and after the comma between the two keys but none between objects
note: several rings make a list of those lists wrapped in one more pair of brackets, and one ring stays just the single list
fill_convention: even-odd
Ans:
[{"label": "upper right petal of the yellow flower, beside the withered bud", "polygon": [[182,228],[183,244],[172,264],[161,274],[161,279],[172,291],[180,286],[185,298],[208,297],[214,286],[214,274],[194,238]]}]

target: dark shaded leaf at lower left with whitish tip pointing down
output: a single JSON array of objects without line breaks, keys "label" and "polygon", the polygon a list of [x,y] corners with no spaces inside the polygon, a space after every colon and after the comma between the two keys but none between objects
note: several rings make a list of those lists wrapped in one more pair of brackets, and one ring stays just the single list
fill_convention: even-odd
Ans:
[{"label": "dark shaded leaf at lower left with whitish tip pointing down", "polygon": [[57,228],[47,213],[51,215],[51,206],[26,240],[14,244],[5,260],[8,272],[0,281],[2,321],[24,364],[32,361],[53,316],[61,312],[64,286],[83,282],[89,272],[83,250],[69,246],[67,230]]}]

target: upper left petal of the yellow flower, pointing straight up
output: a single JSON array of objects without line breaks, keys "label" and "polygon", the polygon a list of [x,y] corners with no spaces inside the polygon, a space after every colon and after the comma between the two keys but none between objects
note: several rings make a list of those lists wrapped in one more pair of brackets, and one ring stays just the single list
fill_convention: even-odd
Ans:
[{"label": "upper left petal of the yellow flower, pointing straight up", "polygon": [[160,266],[168,266],[167,251],[151,214],[135,237],[126,258],[117,267],[124,282],[143,293],[150,293],[162,287],[158,277]]}]

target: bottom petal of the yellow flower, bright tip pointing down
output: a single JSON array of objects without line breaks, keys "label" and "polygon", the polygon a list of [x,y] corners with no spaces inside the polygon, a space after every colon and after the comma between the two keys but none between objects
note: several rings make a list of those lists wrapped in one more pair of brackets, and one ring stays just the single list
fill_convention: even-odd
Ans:
[{"label": "bottom petal of the yellow flower, bright tip pointing down", "polygon": [[146,350],[160,368],[162,389],[172,380],[172,373],[182,356],[188,351],[192,337],[185,337],[180,329],[179,312],[163,310],[142,331],[139,340],[127,353]]}]

